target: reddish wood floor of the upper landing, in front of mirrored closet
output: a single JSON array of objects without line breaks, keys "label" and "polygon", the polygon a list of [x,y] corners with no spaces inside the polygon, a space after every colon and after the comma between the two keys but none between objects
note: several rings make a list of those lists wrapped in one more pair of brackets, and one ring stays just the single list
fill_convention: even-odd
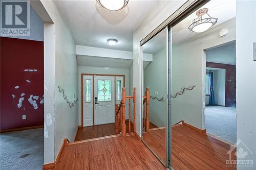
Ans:
[{"label": "reddish wood floor of the upper landing, in front of mirrored closet", "polygon": [[165,169],[134,135],[69,143],[55,169]]}]

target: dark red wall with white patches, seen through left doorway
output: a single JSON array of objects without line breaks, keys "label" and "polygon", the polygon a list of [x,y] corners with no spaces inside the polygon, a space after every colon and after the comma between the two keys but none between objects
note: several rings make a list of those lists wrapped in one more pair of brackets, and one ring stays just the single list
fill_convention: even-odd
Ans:
[{"label": "dark red wall with white patches, seen through left doorway", "polygon": [[[44,94],[44,42],[1,37],[0,43],[1,130],[44,125],[44,104],[40,104]],[[24,101],[18,108],[22,93]],[[32,99],[37,109],[28,101],[31,94],[39,98]],[[27,119],[23,120],[22,115]]]}]

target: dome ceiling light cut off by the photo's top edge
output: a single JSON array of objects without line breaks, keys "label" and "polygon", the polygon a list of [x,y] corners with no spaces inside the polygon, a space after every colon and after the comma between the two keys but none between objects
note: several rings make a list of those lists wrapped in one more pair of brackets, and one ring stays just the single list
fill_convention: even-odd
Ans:
[{"label": "dome ceiling light cut off by the photo's top edge", "polygon": [[129,0],[96,0],[100,6],[111,11],[123,9]]}]

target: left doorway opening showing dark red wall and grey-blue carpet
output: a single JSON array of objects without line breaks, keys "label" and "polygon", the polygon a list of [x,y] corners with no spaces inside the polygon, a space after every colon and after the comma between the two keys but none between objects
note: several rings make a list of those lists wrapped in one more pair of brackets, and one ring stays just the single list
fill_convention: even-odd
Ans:
[{"label": "left doorway opening showing dark red wall and grey-blue carpet", "polygon": [[0,169],[44,164],[44,22],[29,3],[26,7],[30,35],[0,37]]}]

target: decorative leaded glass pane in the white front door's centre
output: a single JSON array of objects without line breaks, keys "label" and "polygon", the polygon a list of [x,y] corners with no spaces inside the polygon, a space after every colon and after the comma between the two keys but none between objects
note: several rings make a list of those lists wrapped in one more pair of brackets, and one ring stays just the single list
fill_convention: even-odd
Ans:
[{"label": "decorative leaded glass pane in the white front door's centre", "polygon": [[111,80],[98,80],[98,101],[111,101]]}]

